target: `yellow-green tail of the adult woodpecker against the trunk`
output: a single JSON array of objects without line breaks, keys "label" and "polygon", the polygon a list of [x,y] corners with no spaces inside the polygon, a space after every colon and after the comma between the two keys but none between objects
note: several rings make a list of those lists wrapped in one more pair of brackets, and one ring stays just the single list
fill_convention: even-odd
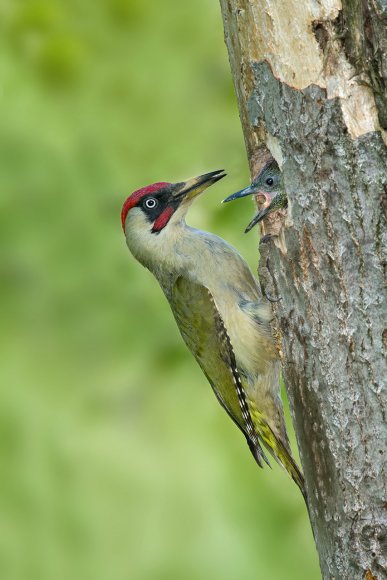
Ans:
[{"label": "yellow-green tail of the adult woodpecker against the trunk", "polygon": [[282,467],[288,472],[293,481],[298,485],[306,502],[304,476],[302,475],[297,463],[294,461],[288,446],[285,445],[285,443],[275,435],[271,427],[264,419],[262,413],[257,411],[257,409],[254,409],[252,416],[259,438],[262,440],[265,447],[270,451],[274,459],[280,465],[282,465]]}]

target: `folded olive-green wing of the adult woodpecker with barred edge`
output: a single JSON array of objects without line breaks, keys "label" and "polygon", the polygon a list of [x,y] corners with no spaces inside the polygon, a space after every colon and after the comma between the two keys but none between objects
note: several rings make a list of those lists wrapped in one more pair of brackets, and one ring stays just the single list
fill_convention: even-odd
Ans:
[{"label": "folded olive-green wing of the adult woodpecker with barred edge", "polygon": [[268,461],[259,444],[231,341],[212,294],[205,286],[180,276],[172,289],[170,303],[184,342],[262,466],[262,459]]}]

